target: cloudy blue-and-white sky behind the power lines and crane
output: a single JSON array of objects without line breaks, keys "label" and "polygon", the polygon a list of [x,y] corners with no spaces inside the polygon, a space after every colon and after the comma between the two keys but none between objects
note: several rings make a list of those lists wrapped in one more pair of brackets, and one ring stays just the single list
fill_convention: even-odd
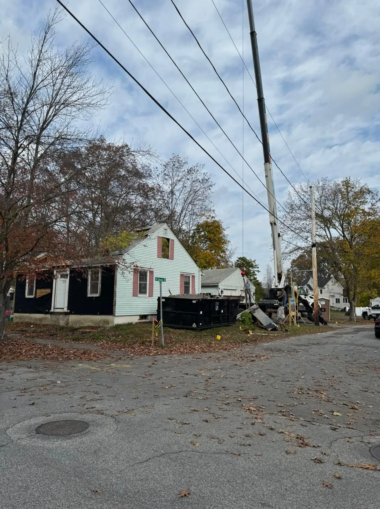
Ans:
[{"label": "cloudy blue-and-white sky behind the power lines and crane", "polygon": [[[128,0],[102,0],[145,58],[165,80],[218,150],[149,67],[99,0],[67,0],[67,6],[170,113],[240,182],[267,204],[266,191],[195,96]],[[156,36],[264,182],[261,145],[218,80],[170,0],[133,0]],[[175,0],[251,126],[260,133],[256,89],[212,0]],[[245,0],[214,0],[251,73],[252,56]],[[360,177],[380,186],[380,9],[377,0],[253,0],[264,95],[275,122],[307,179]],[[27,48],[54,0],[0,0],[0,36]],[[85,39],[67,17],[59,25],[61,46]],[[163,159],[179,154],[201,162],[215,182],[218,218],[228,227],[236,255],[271,264],[268,214],[216,166],[101,48],[91,70],[113,82],[110,106],[95,119],[111,138],[145,140]],[[268,116],[273,158],[293,184],[304,182]],[[226,162],[228,161],[228,163]],[[231,168],[232,166],[232,168]],[[236,173],[235,173],[236,172]],[[274,167],[277,200],[290,188]],[[297,239],[294,239],[297,242]]]}]

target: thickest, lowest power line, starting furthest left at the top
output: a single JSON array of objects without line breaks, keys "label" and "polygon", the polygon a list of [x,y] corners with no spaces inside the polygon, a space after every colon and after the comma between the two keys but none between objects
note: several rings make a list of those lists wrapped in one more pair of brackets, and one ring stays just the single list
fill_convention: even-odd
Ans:
[{"label": "thickest, lowest power line, starting furthest left at the top", "polygon": [[[159,106],[160,109],[162,109],[162,111],[164,111],[164,113],[180,128],[182,129],[182,131],[187,134],[187,136],[189,138],[191,138],[193,140],[193,142],[206,154],[208,155],[208,157],[217,165],[219,166],[219,168],[226,174],[228,175],[239,187],[241,187],[241,189],[243,189],[251,198],[253,198],[255,200],[255,202],[257,202],[263,209],[265,209],[268,213],[269,213],[269,209],[267,207],[265,207],[265,205],[263,205],[259,200],[256,199],[256,197],[254,195],[252,195],[249,191],[247,191],[244,186],[242,184],[240,184],[240,182],[238,182],[228,171],[227,169],[225,169],[204,147],[202,147],[202,145],[197,142],[197,140],[194,138],[194,136],[189,133],[170,113],[169,111],[159,102],[157,101],[157,99],[155,99],[155,97],[152,96],[152,94],[150,94],[150,92],[148,92],[148,90],[143,86],[142,83],[140,83],[140,81],[135,78],[135,76],[128,70],[126,69],[117,59],[116,57],[100,42],[99,39],[97,39],[97,37],[95,37],[88,29],[87,27],[70,11],[70,9],[68,7],[66,7],[62,2],[61,0],[56,0],[56,2],[63,8],[65,9],[65,11],[70,14],[70,16],[82,27],[82,29],[96,42],[99,44],[99,46],[111,57],[111,59],[116,62],[116,64],[126,73],[130,76],[130,78],[133,79],[133,81],[141,88],[141,90],[143,92],[145,92],[145,94],[157,105]],[[273,215],[273,214],[272,214]],[[303,240],[304,242],[308,243],[308,240],[304,239],[298,232],[296,232],[295,230],[293,230],[292,228],[289,227],[289,225],[287,223],[285,223],[284,221],[282,221],[281,219],[279,219],[278,217],[276,217],[276,219],[281,222],[282,224],[284,224],[291,232],[293,232],[295,235],[297,235],[297,237],[299,237],[301,240]]]}]

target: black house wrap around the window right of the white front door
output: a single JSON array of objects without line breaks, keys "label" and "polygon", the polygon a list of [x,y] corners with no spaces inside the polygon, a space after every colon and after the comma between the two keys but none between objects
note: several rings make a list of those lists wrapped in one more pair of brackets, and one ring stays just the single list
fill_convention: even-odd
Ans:
[{"label": "black house wrap around the window right of the white front door", "polygon": [[67,303],[70,315],[113,315],[115,268],[102,267],[101,277],[99,297],[87,297],[87,273],[82,269],[70,270]]}]

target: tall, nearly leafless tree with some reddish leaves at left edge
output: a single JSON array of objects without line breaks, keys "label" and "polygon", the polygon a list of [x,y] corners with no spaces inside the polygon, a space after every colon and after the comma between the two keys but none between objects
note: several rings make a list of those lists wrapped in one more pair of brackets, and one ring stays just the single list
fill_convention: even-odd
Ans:
[{"label": "tall, nearly leafless tree with some reddish leaves at left edge", "polygon": [[0,339],[15,269],[43,250],[68,252],[71,210],[62,211],[61,197],[77,193],[78,168],[62,168],[57,159],[88,138],[80,124],[111,93],[88,72],[88,44],[54,46],[61,19],[59,10],[49,14],[26,54],[9,39],[0,56]]}]

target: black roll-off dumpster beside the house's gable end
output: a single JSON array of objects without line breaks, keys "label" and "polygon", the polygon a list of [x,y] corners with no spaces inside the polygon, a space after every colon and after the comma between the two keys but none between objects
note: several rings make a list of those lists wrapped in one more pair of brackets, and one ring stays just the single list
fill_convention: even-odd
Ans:
[{"label": "black roll-off dumpster beside the house's gable end", "polygon": [[[200,295],[171,295],[162,299],[163,323],[175,329],[207,329],[236,323],[240,297],[205,297]],[[160,320],[160,297],[157,300],[157,319]]]}]

